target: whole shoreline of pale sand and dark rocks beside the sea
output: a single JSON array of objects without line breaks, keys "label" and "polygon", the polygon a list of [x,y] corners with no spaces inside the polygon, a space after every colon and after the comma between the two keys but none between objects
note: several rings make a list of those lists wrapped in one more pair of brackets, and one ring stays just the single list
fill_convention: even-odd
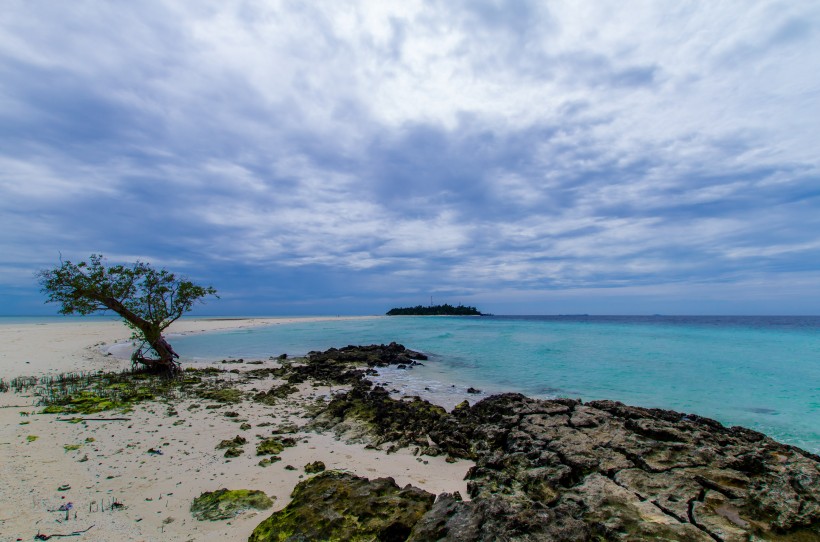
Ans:
[{"label": "whole shoreline of pale sand and dark rocks beside the sea", "polygon": [[[100,343],[127,330],[115,331],[118,323],[94,328],[100,324],[81,333],[78,322],[5,335],[2,374],[121,369]],[[186,325],[179,331],[207,327]],[[51,366],[20,364],[27,355],[49,358]],[[392,396],[368,379],[380,367],[412,368],[422,359],[391,344],[197,365],[186,373],[185,390],[136,401],[120,414],[44,414],[32,404],[33,387],[2,393],[0,451],[11,461],[2,466],[8,483],[0,504],[15,514],[0,518],[0,527],[20,538],[93,524],[92,539],[261,542],[310,525],[317,494],[356,488],[385,497],[334,499],[328,510],[411,511],[385,513],[393,518],[387,525],[368,524],[392,529],[394,539],[479,540],[495,533],[522,540],[731,540],[820,533],[816,455],[669,410],[501,394],[448,412]],[[88,419],[68,423],[75,418]],[[257,455],[264,443],[270,447]],[[273,503],[217,521],[194,519],[194,500],[222,488],[259,490]],[[66,503],[72,508],[59,510]]]}]

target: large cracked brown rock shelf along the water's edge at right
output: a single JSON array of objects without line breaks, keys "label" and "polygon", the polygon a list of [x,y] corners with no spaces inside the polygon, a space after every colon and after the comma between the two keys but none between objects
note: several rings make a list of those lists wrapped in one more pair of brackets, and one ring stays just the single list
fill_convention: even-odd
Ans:
[{"label": "large cracked brown rock shelf along the water's edge at right", "polygon": [[407,540],[820,540],[820,458],[700,416],[520,394],[448,413],[360,377],[314,426],[475,461],[471,500],[439,496]]}]

